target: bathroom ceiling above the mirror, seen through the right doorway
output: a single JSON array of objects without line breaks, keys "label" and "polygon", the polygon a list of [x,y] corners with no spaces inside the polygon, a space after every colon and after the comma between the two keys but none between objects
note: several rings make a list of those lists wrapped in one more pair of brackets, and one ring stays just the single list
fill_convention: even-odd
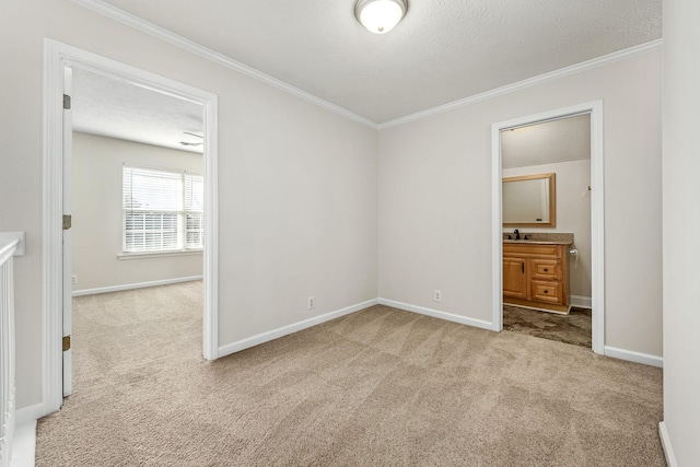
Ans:
[{"label": "bathroom ceiling above the mirror, seen through the right doorway", "polygon": [[501,132],[503,168],[591,159],[591,115]]}]

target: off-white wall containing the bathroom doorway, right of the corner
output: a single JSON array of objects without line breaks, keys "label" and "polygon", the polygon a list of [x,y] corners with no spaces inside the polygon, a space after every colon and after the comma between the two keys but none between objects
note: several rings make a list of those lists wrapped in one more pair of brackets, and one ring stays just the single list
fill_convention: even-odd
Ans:
[{"label": "off-white wall containing the bathroom doorway, right of the corner", "polygon": [[653,50],[383,130],[380,295],[490,322],[491,125],[603,100],[605,343],[661,355],[661,62]]}]

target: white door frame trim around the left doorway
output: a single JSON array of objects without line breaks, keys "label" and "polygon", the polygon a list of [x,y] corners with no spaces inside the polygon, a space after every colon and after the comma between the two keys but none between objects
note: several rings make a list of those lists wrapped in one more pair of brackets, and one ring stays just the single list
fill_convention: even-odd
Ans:
[{"label": "white door frame trim around the left doorway", "polygon": [[[207,360],[219,357],[218,342],[218,101],[217,95],[68,46],[51,39],[44,44],[44,248],[43,248],[43,396],[44,415],[62,405],[62,230],[63,70],[79,66],[118,80],[185,98],[205,112],[205,253],[203,338]],[[70,283],[70,282],[69,282]]]}]

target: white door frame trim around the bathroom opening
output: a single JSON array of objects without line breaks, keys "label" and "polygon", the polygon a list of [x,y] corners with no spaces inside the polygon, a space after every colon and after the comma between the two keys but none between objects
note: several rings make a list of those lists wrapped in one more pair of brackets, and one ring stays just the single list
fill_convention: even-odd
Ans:
[{"label": "white door frame trim around the bathroom opening", "polygon": [[591,114],[591,249],[593,351],[605,353],[605,198],[603,101],[528,115],[491,126],[492,329],[503,330],[503,223],[501,207],[501,131],[563,117]]}]

